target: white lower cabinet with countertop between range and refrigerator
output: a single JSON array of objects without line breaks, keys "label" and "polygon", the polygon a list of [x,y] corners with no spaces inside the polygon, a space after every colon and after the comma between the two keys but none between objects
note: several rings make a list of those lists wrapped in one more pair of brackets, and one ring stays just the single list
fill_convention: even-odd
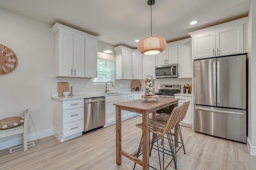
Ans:
[{"label": "white lower cabinet with countertop between range and refrigerator", "polygon": [[187,102],[190,100],[190,104],[188,107],[188,111],[186,113],[186,116],[180,123],[184,123],[184,125],[188,125],[189,127],[192,127],[192,97],[191,96],[178,96],[175,95],[174,98],[179,98],[180,100],[178,101],[178,106],[182,105],[184,102]]}]

